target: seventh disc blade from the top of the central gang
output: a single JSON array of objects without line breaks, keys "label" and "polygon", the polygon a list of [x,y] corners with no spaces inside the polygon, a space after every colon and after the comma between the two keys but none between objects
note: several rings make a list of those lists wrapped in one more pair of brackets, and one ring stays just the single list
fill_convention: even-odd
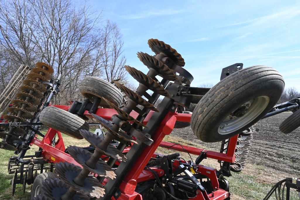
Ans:
[{"label": "seventh disc blade from the top of the central gang", "polygon": [[87,140],[89,143],[91,143],[91,145],[93,145],[102,154],[104,154],[106,156],[110,156],[114,159],[119,159],[119,160],[126,162],[127,158],[125,157],[125,155],[119,149],[117,149],[115,146],[113,146],[112,144],[108,145],[106,151],[103,151],[101,148],[98,147],[100,142],[103,140],[103,138],[101,138],[98,135],[96,135],[92,132],[89,132],[87,130],[82,129],[82,130],[79,130],[79,132],[82,135],[82,137],[85,138],[85,140]]}]

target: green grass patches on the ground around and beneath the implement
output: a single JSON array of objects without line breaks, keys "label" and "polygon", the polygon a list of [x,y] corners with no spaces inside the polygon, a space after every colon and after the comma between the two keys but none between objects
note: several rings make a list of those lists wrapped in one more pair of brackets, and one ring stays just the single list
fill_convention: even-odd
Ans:
[{"label": "green grass patches on the ground around and beneath the implement", "polygon": [[[93,131],[94,130],[92,130],[92,132]],[[63,138],[66,146],[77,145],[85,147],[89,145],[85,140],[77,140],[67,135],[63,135]],[[199,144],[194,144],[190,141],[185,141],[173,136],[166,136],[164,141],[205,148]],[[26,155],[34,155],[36,150],[38,150],[38,147],[33,146],[27,151]],[[161,154],[172,154],[176,151],[158,147],[157,152]],[[190,160],[187,153],[180,152],[180,154],[184,159]],[[13,156],[13,152],[0,149],[0,199],[30,199],[31,186],[29,185],[27,185],[25,195],[23,195],[22,185],[17,184],[15,195],[14,197],[11,196],[10,180],[12,179],[13,174],[7,173],[7,162],[10,156]],[[197,156],[191,155],[191,157],[195,161]],[[205,159],[201,164],[212,168],[219,168],[219,164],[213,159]],[[243,169],[241,173],[232,173],[232,177],[226,177],[229,181],[230,193],[233,196],[232,200],[260,200],[276,182],[283,178],[284,176],[282,174],[269,173],[268,169],[265,167],[251,164],[247,164],[246,168]],[[275,195],[273,195],[271,199],[275,199]],[[292,191],[291,199],[298,199],[298,193]]]}]

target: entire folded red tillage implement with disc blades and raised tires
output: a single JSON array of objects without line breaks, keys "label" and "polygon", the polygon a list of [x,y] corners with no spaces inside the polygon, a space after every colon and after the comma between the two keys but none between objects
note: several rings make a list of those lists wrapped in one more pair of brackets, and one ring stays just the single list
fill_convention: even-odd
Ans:
[{"label": "entire folded red tillage implement with disc blades and raised tires", "polygon": [[[223,68],[213,88],[191,87],[193,76],[183,68],[182,56],[157,39],[148,44],[155,56],[137,53],[147,74],[125,66],[139,82],[136,91],[117,81],[85,77],[79,84],[85,99],[69,106],[50,104],[60,77],[52,79],[51,66],[36,64],[1,123],[0,148],[18,154],[8,165],[13,194],[16,184],[23,185],[23,192],[32,184],[32,199],[230,199],[224,176],[245,165],[253,125],[263,117],[298,110],[300,98],[275,105],[284,81],[262,65],[242,69],[236,63]],[[160,95],[164,98],[155,108]],[[193,113],[182,111],[191,103],[197,104]],[[89,118],[97,123],[87,123]],[[49,127],[45,135],[42,124]],[[89,132],[89,125],[96,124],[107,130],[104,137]],[[163,141],[173,128],[186,126],[204,142],[222,141],[220,152]],[[290,131],[286,125],[282,130]],[[91,146],[66,148],[61,132]],[[31,145],[39,150],[26,156]],[[158,147],[198,157],[185,161],[179,153],[156,153]],[[217,159],[220,170],[201,165],[206,158]]]}]

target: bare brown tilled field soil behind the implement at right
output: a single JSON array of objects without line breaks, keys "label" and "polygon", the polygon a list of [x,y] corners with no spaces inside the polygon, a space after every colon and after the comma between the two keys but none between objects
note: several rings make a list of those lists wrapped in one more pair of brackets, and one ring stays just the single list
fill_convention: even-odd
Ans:
[{"label": "bare brown tilled field soil behind the implement at right", "polygon": [[[278,128],[290,114],[277,114],[256,124],[260,130],[253,134],[247,162],[265,166],[276,173],[300,175],[300,128],[290,134],[284,134]],[[204,143],[196,138],[190,127],[174,129],[171,135],[198,143],[208,150],[220,151],[220,142]]]}]

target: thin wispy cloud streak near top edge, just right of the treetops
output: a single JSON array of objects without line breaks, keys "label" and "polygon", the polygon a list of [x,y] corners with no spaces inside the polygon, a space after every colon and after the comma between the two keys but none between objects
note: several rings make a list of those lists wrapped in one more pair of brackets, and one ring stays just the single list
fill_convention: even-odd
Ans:
[{"label": "thin wispy cloud streak near top edge, just right of the treetops", "polygon": [[185,10],[168,9],[168,10],[160,10],[160,11],[144,11],[141,13],[122,15],[122,16],[118,16],[118,17],[127,19],[127,20],[134,20],[134,19],[142,19],[142,18],[148,18],[148,17],[176,15],[176,14],[181,14],[183,12],[185,12]]}]

